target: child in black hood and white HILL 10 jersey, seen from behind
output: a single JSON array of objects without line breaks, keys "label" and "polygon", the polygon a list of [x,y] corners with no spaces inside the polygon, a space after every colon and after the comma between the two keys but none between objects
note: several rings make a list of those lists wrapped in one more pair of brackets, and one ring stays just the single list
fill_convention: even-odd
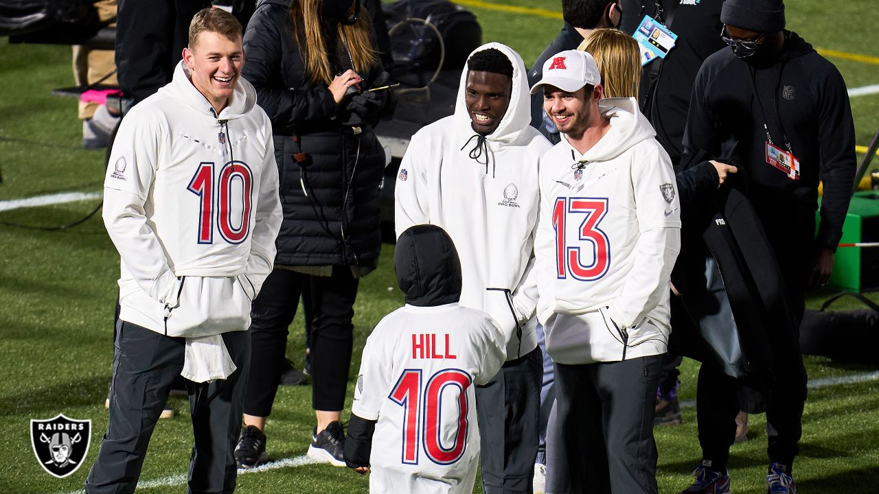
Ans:
[{"label": "child in black hood and white HILL 10 jersey, seen from behind", "polygon": [[363,349],[345,461],[371,472],[370,492],[469,494],[479,463],[474,385],[498,373],[504,338],[491,316],[458,304],[461,261],[445,230],[406,229],[394,266],[406,305]]}]

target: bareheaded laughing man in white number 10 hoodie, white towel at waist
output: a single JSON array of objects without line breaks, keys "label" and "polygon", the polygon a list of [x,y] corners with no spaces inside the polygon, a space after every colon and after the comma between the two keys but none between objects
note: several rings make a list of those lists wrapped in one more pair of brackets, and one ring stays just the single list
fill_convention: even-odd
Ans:
[{"label": "bareheaded laughing man in white number 10 hoodie, white towel at waist", "polygon": [[243,57],[236,18],[199,11],[173,80],[134,106],[113,143],[104,223],[121,256],[121,309],[90,494],[134,492],[178,374],[195,436],[189,491],[235,490],[246,330],[281,221],[272,127],[238,76]]}]

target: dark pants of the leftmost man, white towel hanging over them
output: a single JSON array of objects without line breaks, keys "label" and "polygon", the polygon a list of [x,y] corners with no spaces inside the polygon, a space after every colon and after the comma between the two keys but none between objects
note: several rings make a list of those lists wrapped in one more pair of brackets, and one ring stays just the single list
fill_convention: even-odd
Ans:
[{"label": "dark pants of the leftmost man, white towel hanging over them", "polygon": [[[107,432],[85,479],[89,494],[134,492],[149,438],[171,383],[183,370],[185,338],[168,338],[120,321],[113,356],[113,386]],[[229,379],[186,381],[195,444],[189,461],[188,492],[235,490],[235,446],[241,430],[244,382],[250,367],[246,331],[222,335],[237,370]]]}]

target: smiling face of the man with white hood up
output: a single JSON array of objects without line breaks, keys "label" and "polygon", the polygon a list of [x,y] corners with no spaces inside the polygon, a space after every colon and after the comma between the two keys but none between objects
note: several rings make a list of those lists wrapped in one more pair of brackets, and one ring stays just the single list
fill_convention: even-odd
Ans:
[{"label": "smiling face of the man with white hood up", "polygon": [[512,78],[494,72],[470,70],[464,86],[464,103],[470,126],[480,134],[491,134],[510,106]]}]

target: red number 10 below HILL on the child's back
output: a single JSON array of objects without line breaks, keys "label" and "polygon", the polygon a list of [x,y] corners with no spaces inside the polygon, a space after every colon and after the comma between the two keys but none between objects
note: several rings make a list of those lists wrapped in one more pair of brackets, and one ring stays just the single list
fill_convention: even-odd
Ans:
[{"label": "red number 10 below HILL on the child's back", "polygon": [[[421,369],[403,371],[388,396],[403,407],[403,463],[418,465],[419,442],[424,445],[427,458],[434,463],[450,465],[461,460],[467,446],[467,390],[471,381],[469,374],[460,369],[443,369],[433,374],[422,389]],[[440,404],[453,406],[443,410]],[[443,444],[443,435],[451,435],[452,444]]]}]

